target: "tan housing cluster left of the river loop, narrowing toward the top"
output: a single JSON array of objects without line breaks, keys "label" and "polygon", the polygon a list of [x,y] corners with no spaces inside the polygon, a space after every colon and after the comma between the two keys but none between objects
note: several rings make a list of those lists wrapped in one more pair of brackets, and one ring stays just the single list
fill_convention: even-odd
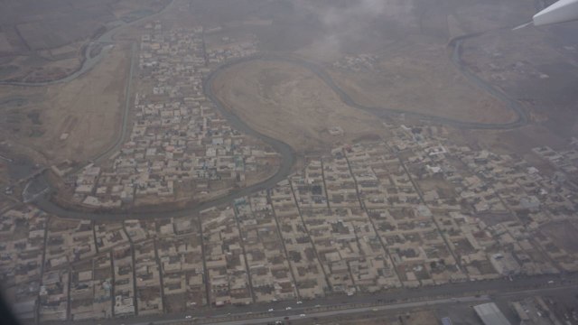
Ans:
[{"label": "tan housing cluster left of the river loop, narrowing toward the top", "polygon": [[205,51],[202,27],[142,35],[129,139],[111,164],[89,164],[74,198],[94,208],[206,200],[275,171],[278,155],[228,124],[203,93],[209,62],[252,54],[254,44]]}]

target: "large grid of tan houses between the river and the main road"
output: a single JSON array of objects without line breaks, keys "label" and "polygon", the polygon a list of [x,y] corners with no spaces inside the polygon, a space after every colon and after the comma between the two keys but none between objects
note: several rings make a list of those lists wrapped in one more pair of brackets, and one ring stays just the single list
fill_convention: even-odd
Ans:
[{"label": "large grid of tan houses between the river and the main road", "polygon": [[[79,320],[578,270],[570,175],[452,144],[437,127],[389,127],[394,138],[342,145],[189,218],[10,209],[3,282],[21,316]],[[536,152],[568,169],[574,150]]]}]

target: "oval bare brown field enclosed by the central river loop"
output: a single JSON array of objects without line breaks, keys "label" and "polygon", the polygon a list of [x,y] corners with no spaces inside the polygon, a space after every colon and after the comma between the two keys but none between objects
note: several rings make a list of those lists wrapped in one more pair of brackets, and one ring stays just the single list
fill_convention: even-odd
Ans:
[{"label": "oval bare brown field enclosed by the central river loop", "polygon": [[[214,91],[248,125],[282,139],[298,153],[384,132],[374,116],[346,106],[322,79],[288,62],[235,65],[215,79]],[[330,135],[332,126],[340,126],[345,134]]]}]

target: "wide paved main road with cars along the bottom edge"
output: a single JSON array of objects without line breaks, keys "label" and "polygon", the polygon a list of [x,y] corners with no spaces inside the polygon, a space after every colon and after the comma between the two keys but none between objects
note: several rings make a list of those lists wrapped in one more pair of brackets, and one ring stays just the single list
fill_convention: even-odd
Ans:
[{"label": "wide paved main road with cars along the bottom edge", "polygon": [[[555,283],[548,283],[554,281]],[[111,325],[145,325],[169,324],[181,322],[185,316],[195,318],[195,324],[255,324],[283,320],[285,316],[290,319],[326,317],[346,313],[359,313],[378,310],[400,310],[424,305],[437,305],[456,302],[485,302],[491,298],[514,299],[519,296],[527,296],[536,293],[553,293],[562,291],[575,291],[578,289],[578,274],[569,277],[538,276],[516,278],[514,281],[493,280],[481,282],[466,282],[444,284],[439,286],[421,287],[417,289],[399,289],[376,294],[359,294],[354,296],[328,296],[312,301],[304,301],[303,304],[296,302],[273,302],[252,304],[244,307],[227,306],[223,308],[205,308],[198,311],[181,312],[164,315],[152,315],[133,317],[129,319],[112,319],[75,321],[76,325],[95,325],[107,323]],[[292,307],[290,311],[286,307]],[[274,311],[269,312],[269,309]],[[191,319],[192,320],[192,319]],[[71,322],[70,322],[71,323]]]}]

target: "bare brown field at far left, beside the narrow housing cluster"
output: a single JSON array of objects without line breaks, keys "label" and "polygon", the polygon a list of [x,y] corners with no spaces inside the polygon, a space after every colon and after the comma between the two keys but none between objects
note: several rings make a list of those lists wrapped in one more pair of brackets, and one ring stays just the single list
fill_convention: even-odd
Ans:
[{"label": "bare brown field at far left, beside the narrow housing cluster", "polygon": [[[0,88],[0,98],[35,96],[18,108],[24,116],[23,122],[14,126],[19,132],[10,130],[13,132],[6,138],[42,153],[49,163],[84,161],[104,150],[119,129],[129,62],[128,46],[117,45],[93,70],[69,83]],[[39,114],[36,124],[26,120],[30,112]],[[60,140],[63,133],[70,134],[64,141]]]}]

